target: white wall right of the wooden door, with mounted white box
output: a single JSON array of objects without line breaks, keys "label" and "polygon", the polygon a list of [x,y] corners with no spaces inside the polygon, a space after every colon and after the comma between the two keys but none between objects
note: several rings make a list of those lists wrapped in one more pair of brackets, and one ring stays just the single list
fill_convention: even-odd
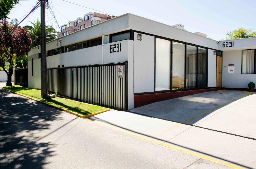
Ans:
[{"label": "white wall right of the wooden door, with mounted white box", "polygon": [[[242,50],[223,51],[222,87],[248,88],[248,83],[256,84],[256,74],[241,74],[241,63]],[[234,64],[234,73],[228,73],[229,64]]]}]

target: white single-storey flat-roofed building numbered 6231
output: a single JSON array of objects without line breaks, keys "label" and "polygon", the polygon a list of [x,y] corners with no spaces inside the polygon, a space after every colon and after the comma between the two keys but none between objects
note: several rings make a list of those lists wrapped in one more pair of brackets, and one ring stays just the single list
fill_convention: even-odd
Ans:
[{"label": "white single-storey flat-roofed building numbered 6231", "polygon": [[[47,68],[128,61],[128,109],[256,83],[256,37],[218,42],[182,26],[125,14],[48,42]],[[40,88],[39,53],[40,46],[28,53],[32,88]]]}]

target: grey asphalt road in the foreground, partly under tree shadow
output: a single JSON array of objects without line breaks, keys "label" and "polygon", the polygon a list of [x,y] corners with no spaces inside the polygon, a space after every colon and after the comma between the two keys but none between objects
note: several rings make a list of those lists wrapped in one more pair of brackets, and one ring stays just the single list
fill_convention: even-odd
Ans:
[{"label": "grey asphalt road in the foreground, partly under tree shadow", "polygon": [[0,168],[228,168],[0,89]]}]

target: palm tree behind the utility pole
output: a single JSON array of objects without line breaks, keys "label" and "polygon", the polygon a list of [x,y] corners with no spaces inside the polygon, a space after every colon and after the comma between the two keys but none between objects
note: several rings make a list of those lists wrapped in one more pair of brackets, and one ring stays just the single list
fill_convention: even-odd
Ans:
[{"label": "palm tree behind the utility pole", "polygon": [[[34,21],[34,23],[31,22],[33,26],[26,25],[24,28],[27,28],[30,37],[32,40],[31,48],[40,45],[40,36],[41,36],[41,23],[37,19],[37,22]],[[54,40],[58,37],[59,32],[57,32],[52,26],[47,25],[45,27],[45,35],[46,35],[46,42],[49,42],[51,40]]]}]

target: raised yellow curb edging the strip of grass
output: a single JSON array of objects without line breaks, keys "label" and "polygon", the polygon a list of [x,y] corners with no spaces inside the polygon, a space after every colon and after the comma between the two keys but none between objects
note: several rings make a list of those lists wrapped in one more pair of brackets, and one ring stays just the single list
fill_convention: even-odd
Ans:
[{"label": "raised yellow curb edging the strip of grass", "polygon": [[65,111],[65,112],[67,112],[67,113],[71,113],[71,114],[76,115],[76,116],[78,116],[78,117],[80,117],[80,118],[82,118],[82,119],[88,118],[88,117],[91,117],[91,116],[94,116],[94,115],[97,115],[97,114],[100,114],[100,113],[103,113],[103,112],[106,112],[106,111],[110,111],[110,109],[106,109],[106,110],[98,111],[98,112],[96,112],[96,113],[91,113],[91,114],[87,114],[87,115],[81,115],[81,114],[79,114],[79,113],[76,113],[76,112],[73,112],[73,111],[70,111],[70,110],[67,110],[67,109],[63,109],[63,108],[60,108],[60,107],[57,107],[57,106],[54,106],[54,105],[50,105],[50,104],[45,103],[45,102],[42,102],[42,101],[40,101],[40,100],[36,100],[36,99],[31,98],[31,97],[28,97],[28,96],[26,96],[26,95],[13,92],[12,90],[9,90],[9,89],[5,89],[5,88],[2,88],[2,87],[1,87],[1,89],[7,90],[7,91],[9,91],[9,92],[11,92],[11,93],[14,93],[14,94],[17,94],[17,95],[26,97],[26,98],[31,99],[31,100],[34,100],[34,101],[37,101],[37,102],[39,102],[39,103],[45,104],[45,105],[50,106],[50,107],[53,107],[53,108],[55,108],[55,109],[59,109],[59,110]]}]

